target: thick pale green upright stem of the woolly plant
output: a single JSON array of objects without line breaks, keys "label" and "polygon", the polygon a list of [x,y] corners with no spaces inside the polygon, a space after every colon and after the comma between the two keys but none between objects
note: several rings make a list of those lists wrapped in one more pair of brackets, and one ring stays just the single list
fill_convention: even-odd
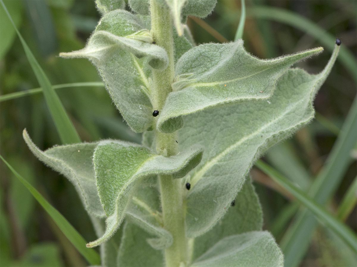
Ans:
[{"label": "thick pale green upright stem of the woolly plant", "polygon": [[[167,7],[151,0],[151,33],[156,45],[161,46],[169,57],[169,66],[162,71],[152,71],[152,100],[154,109],[160,110],[167,95],[172,91],[174,79],[174,38],[172,19]],[[159,114],[160,116],[160,114]],[[160,155],[177,154],[177,133],[162,133],[155,130],[156,152]],[[182,183],[172,176],[159,176],[161,207],[164,228],[173,237],[173,243],[165,250],[166,266],[187,265],[187,238],[185,231],[185,212],[182,201]]]}]

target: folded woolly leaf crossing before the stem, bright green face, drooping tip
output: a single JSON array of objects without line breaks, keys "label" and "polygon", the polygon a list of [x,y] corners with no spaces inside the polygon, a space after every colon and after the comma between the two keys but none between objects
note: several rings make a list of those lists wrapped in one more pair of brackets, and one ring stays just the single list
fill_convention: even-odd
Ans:
[{"label": "folded woolly leaf crossing before the stem, bright green face, drooping tip", "polygon": [[123,141],[101,141],[93,155],[96,184],[107,215],[102,237],[87,244],[94,247],[110,239],[120,226],[139,181],[157,174],[182,177],[202,157],[202,148],[193,146],[179,155],[154,155],[149,149]]}]

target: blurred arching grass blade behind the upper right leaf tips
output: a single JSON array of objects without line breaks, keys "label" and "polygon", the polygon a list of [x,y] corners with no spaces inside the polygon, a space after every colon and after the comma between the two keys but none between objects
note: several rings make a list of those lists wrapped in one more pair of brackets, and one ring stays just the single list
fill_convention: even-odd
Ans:
[{"label": "blurred arching grass blade behind the upper right leaf tips", "polygon": [[[333,51],[336,37],[327,33],[316,23],[294,12],[277,7],[255,6],[249,9],[248,15],[258,19],[268,19],[286,23],[287,25],[298,28],[315,37],[328,50]],[[357,62],[355,58],[356,57],[346,47],[341,46],[340,57],[338,57],[338,60],[340,60],[343,66],[350,72],[352,78],[356,80]]]}]

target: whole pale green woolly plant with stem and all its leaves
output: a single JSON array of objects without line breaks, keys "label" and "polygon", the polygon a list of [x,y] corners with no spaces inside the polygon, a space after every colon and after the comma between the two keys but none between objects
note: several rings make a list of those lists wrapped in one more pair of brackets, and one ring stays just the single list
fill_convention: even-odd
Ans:
[{"label": "whole pale green woolly plant with stem and all its leaves", "polygon": [[98,235],[87,247],[101,246],[103,266],[283,266],[249,170],[313,119],[339,46],[312,75],[290,67],[321,47],[261,60],[241,39],[195,46],[186,18],[209,15],[216,0],[129,0],[133,13],[124,0],[96,3],[102,18],[86,47],[60,56],[97,67],[142,144],[41,151],[24,131],[80,195]]}]

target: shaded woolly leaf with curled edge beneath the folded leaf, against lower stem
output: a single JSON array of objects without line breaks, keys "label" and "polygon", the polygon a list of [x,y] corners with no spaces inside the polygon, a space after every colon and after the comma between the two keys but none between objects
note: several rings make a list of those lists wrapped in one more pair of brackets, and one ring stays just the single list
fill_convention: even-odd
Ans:
[{"label": "shaded woolly leaf with curled edge beneath the folded leaf, against lower stem", "polygon": [[[149,180],[156,182],[156,177]],[[126,220],[153,235],[147,239],[147,242],[157,250],[172,244],[172,235],[162,227],[160,204],[156,183],[141,184],[132,197],[131,205],[126,213]]]}]

